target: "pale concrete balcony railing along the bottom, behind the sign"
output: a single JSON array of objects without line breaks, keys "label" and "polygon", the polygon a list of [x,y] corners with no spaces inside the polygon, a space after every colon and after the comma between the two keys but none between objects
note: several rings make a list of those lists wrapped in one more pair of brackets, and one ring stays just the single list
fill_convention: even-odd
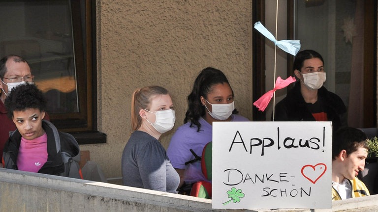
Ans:
[{"label": "pale concrete balcony railing along the bottom, behind the sign", "polygon": [[[364,211],[378,208],[378,195],[333,202],[327,210],[273,212]],[[0,168],[0,211],[10,212],[272,212],[217,210],[211,200],[39,173]]]}]

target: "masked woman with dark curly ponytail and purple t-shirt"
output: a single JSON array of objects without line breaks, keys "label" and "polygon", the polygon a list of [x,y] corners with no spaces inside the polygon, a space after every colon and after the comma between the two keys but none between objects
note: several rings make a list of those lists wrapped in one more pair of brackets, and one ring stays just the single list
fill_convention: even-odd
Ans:
[{"label": "masked woman with dark curly ponytail and purple t-shirt", "polygon": [[201,156],[204,146],[212,141],[213,122],[249,121],[236,113],[234,93],[226,76],[212,67],[203,69],[188,96],[184,125],[174,133],[167,150],[173,167],[180,175],[179,187],[184,182],[191,184],[204,180],[198,176],[198,173],[202,173],[199,161],[186,162],[195,160],[194,154]]}]

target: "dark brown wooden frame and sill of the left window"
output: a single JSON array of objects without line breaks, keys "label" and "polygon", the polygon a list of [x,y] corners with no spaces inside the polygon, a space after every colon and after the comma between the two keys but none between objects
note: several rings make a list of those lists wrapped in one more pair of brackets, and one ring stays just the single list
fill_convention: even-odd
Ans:
[{"label": "dark brown wooden frame and sill of the left window", "polygon": [[97,131],[95,1],[70,0],[70,4],[79,112],[49,113],[50,120],[79,144],[106,143],[106,134]]}]

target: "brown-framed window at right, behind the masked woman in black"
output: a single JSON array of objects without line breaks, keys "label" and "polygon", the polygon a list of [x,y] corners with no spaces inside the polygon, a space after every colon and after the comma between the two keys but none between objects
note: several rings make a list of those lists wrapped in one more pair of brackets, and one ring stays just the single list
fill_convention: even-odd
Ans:
[{"label": "brown-framed window at right, behind the masked woman in black", "polygon": [[377,1],[295,0],[297,39],[324,59],[325,87],[347,106],[348,126],[377,126]]}]

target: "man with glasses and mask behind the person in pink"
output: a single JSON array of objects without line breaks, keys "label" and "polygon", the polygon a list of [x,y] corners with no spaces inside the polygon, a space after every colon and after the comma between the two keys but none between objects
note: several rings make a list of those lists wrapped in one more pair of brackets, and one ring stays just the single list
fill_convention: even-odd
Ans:
[{"label": "man with glasses and mask behind the person in pink", "polygon": [[[3,147],[9,138],[9,132],[16,130],[16,125],[6,115],[5,98],[17,85],[26,82],[33,83],[34,76],[25,59],[17,55],[7,55],[0,59],[0,79],[0,158],[2,158]],[[47,113],[44,119],[50,120]]]}]

